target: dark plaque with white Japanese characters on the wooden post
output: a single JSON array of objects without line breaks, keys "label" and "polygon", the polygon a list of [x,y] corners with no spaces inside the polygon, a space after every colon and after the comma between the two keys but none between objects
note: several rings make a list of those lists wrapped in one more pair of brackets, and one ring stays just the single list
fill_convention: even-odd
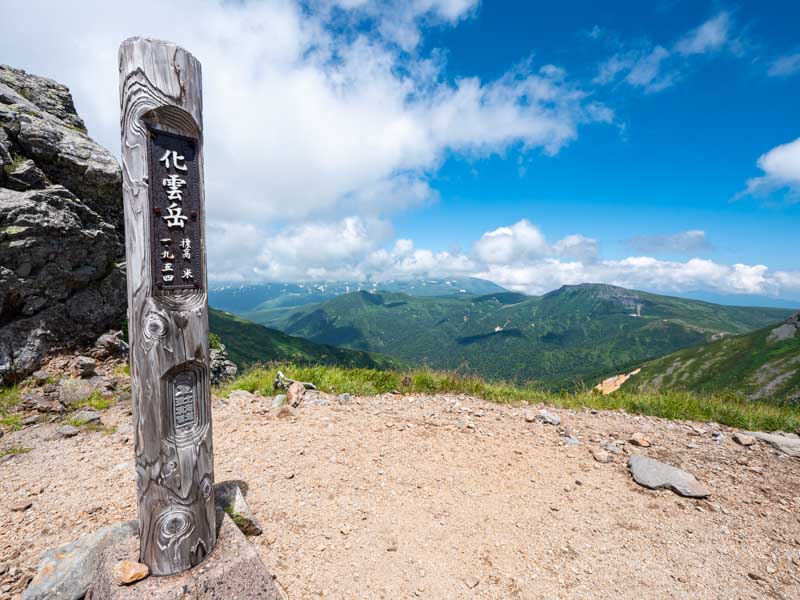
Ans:
[{"label": "dark plaque with white Japanese characters on the wooden post", "polygon": [[197,140],[150,130],[150,252],[156,294],[203,288]]}]

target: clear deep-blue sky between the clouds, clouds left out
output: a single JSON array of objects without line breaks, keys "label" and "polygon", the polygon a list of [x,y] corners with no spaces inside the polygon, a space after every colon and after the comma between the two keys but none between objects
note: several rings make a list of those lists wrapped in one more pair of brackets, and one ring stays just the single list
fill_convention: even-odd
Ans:
[{"label": "clear deep-blue sky between the clouds, clouds left out", "polygon": [[[604,255],[622,258],[630,253],[624,240],[634,235],[700,229],[710,246],[704,256],[796,269],[800,204],[782,201],[785,190],[733,199],[746,179],[759,175],[755,158],[800,135],[800,72],[767,76],[775,57],[800,48],[800,4],[656,4],[618,2],[609,10],[565,2],[543,10],[535,3],[484,2],[475,18],[431,35],[426,48],[447,48],[450,77],[496,77],[533,55],[590,81],[618,49],[672,44],[721,12],[731,15],[744,48],[741,55],[687,60],[680,80],[657,93],[625,84],[593,87],[624,130],[588,127],[555,157],[514,149],[503,158],[448,160],[436,177],[440,204],[404,218],[400,235],[446,249],[464,234],[475,239],[487,227],[528,218],[554,237],[592,235]],[[458,230],[443,236],[454,215]]]}]

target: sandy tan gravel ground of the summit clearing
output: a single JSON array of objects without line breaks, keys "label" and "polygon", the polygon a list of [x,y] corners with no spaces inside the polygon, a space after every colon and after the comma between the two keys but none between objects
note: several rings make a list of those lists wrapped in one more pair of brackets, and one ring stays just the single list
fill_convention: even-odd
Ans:
[{"label": "sandy tan gravel ground of the summit clearing", "polygon": [[[582,441],[565,446],[528,407],[465,397],[334,399],[281,419],[268,403],[217,402],[216,476],[249,484],[264,527],[251,540],[293,600],[800,598],[800,460],[727,428],[718,443],[708,425],[553,411]],[[116,406],[110,435],[48,440],[50,424],[0,440],[32,448],[0,465],[0,586],[46,548],[135,518],[129,420]],[[694,473],[711,498],[640,488],[624,453],[592,458],[634,432],[653,446],[627,450]]]}]

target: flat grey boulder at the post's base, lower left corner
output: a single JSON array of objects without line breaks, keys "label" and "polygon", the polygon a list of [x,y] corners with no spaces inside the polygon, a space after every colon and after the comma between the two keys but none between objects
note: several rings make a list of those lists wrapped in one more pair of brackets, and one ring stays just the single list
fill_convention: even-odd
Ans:
[{"label": "flat grey boulder at the post's base, lower left corner", "polygon": [[22,600],[79,600],[92,583],[106,548],[135,537],[138,521],[116,523],[42,555],[38,572]]}]

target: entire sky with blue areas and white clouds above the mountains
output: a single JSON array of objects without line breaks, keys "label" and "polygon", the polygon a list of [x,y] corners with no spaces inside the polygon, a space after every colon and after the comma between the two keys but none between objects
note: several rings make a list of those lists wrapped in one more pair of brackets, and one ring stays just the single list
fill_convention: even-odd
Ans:
[{"label": "entire sky with blue areas and white clouds above the mountains", "polygon": [[15,3],[0,61],[116,150],[119,43],[201,60],[214,279],[800,300],[795,2],[137,6]]}]

